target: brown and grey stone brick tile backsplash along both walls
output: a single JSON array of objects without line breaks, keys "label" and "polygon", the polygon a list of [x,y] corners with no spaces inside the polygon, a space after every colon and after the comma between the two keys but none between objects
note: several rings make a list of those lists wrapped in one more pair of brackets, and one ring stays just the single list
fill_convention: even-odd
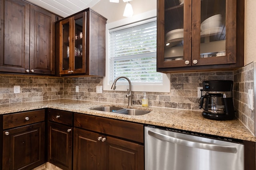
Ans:
[{"label": "brown and grey stone brick tile backsplash along both walls", "polygon": [[[149,106],[200,110],[197,87],[204,80],[234,80],[236,116],[254,134],[254,111],[248,109],[248,89],[254,88],[254,63],[235,71],[192,72],[170,74],[170,93],[147,92]],[[14,93],[20,86],[20,93]],[[76,86],[79,92],[76,92]],[[126,92],[103,90],[103,77],[45,77],[0,74],[0,104],[52,99],[90,100],[127,104]],[[133,104],[141,105],[142,92],[133,92]]]}]

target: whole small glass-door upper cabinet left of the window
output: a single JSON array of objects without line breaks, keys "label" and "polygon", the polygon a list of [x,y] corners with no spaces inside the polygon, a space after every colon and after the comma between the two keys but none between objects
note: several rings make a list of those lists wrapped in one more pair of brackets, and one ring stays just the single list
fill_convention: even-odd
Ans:
[{"label": "whole small glass-door upper cabinet left of the window", "polygon": [[87,8],[56,22],[57,75],[105,76],[106,18]]}]

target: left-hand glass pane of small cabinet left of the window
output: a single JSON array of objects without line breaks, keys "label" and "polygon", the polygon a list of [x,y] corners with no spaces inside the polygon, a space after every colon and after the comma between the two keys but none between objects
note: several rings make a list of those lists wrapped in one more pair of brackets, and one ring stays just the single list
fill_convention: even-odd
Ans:
[{"label": "left-hand glass pane of small cabinet left of the window", "polygon": [[62,25],[62,70],[69,69],[69,23]]}]

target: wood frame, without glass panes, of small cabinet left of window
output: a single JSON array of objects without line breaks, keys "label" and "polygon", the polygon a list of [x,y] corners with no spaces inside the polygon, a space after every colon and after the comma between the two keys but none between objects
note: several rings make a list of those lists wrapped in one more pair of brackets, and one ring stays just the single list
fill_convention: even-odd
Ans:
[{"label": "wood frame, without glass panes, of small cabinet left of window", "polygon": [[[75,20],[83,18],[83,42],[82,42],[82,68],[75,69],[74,56],[74,37],[75,37]],[[106,18],[87,8],[81,12],[73,14],[56,22],[56,75],[57,76],[105,76],[106,65]],[[69,27],[69,68],[63,70],[62,56],[62,24],[68,23]],[[66,49],[65,49],[66,50]]]}]

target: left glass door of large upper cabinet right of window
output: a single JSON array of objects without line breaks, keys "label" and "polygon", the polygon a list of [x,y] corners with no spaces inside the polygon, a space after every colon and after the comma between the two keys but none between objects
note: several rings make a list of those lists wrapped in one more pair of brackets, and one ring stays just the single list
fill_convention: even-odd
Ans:
[{"label": "left glass door of large upper cabinet right of window", "polygon": [[191,0],[158,0],[158,68],[191,66]]}]

